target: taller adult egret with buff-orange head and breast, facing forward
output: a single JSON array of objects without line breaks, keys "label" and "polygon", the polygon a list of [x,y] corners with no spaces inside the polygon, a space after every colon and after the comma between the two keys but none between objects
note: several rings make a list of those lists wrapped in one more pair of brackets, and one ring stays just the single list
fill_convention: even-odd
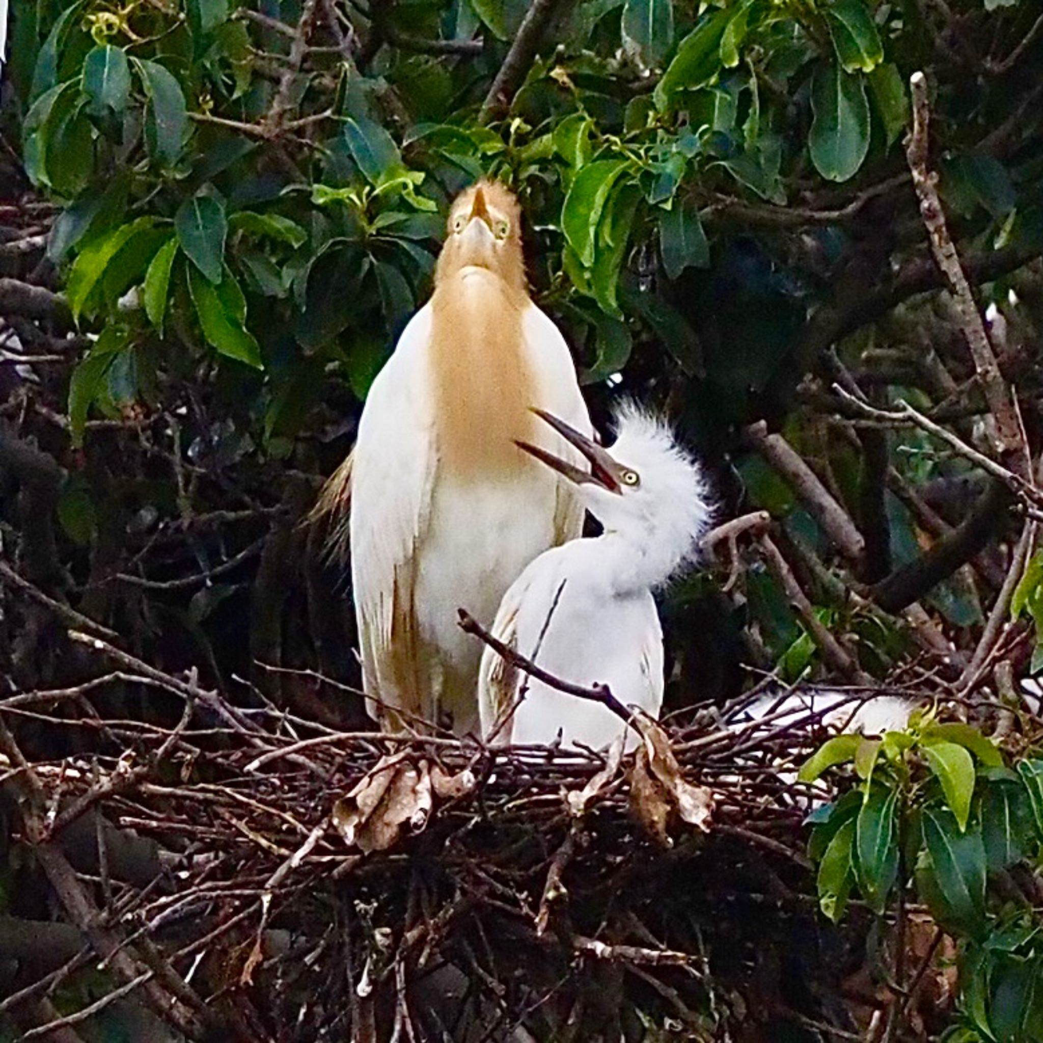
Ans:
[{"label": "taller adult egret with buff-orange head and breast, facing forward", "polygon": [[[582,530],[574,487],[515,445],[540,437],[530,407],[591,431],[568,347],[529,296],[519,224],[502,185],[454,201],[434,294],[373,382],[324,496],[343,508],[349,482],[363,683],[385,728],[477,728],[481,647],[457,608],[491,621],[522,569]],[[572,452],[553,432],[542,441]]]}]

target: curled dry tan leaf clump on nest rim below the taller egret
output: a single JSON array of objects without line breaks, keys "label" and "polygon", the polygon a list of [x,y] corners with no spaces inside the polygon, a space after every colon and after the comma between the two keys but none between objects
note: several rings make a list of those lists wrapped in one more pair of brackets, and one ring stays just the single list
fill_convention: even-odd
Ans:
[{"label": "curled dry tan leaf clump on nest rim below the taller egret", "polygon": [[414,765],[406,754],[382,757],[356,787],[334,804],[333,823],[348,846],[365,852],[384,851],[403,828],[420,832],[431,817],[433,796],[463,797],[475,789],[470,771],[450,775],[427,760]]}]

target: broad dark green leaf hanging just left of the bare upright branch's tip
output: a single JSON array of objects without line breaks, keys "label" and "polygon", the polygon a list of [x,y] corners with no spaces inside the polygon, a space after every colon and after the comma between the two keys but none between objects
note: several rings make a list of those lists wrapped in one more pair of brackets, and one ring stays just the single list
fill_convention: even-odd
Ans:
[{"label": "broad dark green leaf hanging just left of the bare upright branch's tip", "polygon": [[811,162],[823,177],[846,181],[869,151],[869,101],[862,76],[823,62],[811,78],[815,119],[808,137]]}]

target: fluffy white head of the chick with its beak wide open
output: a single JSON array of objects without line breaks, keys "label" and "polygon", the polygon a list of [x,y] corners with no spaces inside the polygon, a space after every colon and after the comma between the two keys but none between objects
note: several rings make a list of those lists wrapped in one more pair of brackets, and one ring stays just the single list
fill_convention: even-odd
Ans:
[{"label": "fluffy white head of the chick with its beak wide open", "polygon": [[615,410],[616,438],[604,448],[548,413],[539,414],[586,458],[577,467],[542,450],[523,447],[579,487],[605,535],[623,539],[651,585],[695,559],[713,514],[702,468],[661,418],[627,402]]}]

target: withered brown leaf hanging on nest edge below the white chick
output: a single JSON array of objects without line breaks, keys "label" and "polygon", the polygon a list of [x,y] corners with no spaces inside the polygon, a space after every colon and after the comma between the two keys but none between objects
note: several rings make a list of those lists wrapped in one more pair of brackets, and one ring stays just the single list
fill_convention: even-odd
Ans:
[{"label": "withered brown leaf hanging on nest edge below the white chick", "polygon": [[675,816],[709,832],[712,793],[685,781],[666,733],[651,718],[638,717],[635,723],[644,739],[630,773],[630,806],[637,820],[666,846],[672,843],[666,827]]}]

